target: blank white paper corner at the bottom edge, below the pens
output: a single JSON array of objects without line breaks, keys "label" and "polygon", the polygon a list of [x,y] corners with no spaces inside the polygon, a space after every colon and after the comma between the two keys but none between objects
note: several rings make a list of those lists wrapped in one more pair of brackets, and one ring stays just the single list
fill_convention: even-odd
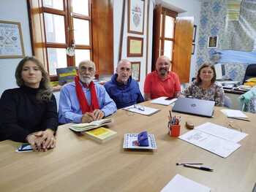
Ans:
[{"label": "blank white paper corner at the bottom edge, below the pens", "polygon": [[196,183],[193,180],[189,180],[187,177],[183,177],[180,174],[176,174],[172,180],[170,180],[165,188],[162,188],[161,192],[209,192],[211,188],[206,187],[200,183]]}]

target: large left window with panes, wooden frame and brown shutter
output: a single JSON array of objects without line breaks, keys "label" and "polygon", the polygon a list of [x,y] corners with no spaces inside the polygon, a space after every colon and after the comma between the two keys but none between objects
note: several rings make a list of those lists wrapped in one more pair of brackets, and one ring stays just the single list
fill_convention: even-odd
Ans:
[{"label": "large left window with panes, wooden frame and brown shutter", "polygon": [[[102,46],[111,45],[109,42],[113,42],[111,2],[108,0],[28,0],[28,5],[33,55],[45,65],[51,80],[57,80],[57,68],[78,66],[80,61],[86,59],[95,62],[97,74],[101,69],[104,69],[102,72],[104,74],[113,73],[113,50]],[[99,16],[101,9],[105,9],[106,12],[101,12]],[[100,28],[106,31],[99,30]],[[102,38],[105,34],[108,34],[110,40]],[[99,47],[99,39],[102,43],[101,47]],[[104,41],[108,41],[108,44]],[[68,47],[71,47],[69,50],[74,50],[75,54],[67,54]],[[104,63],[105,66],[99,67],[99,61],[102,60],[108,62]],[[105,70],[106,67],[108,70]]]}]

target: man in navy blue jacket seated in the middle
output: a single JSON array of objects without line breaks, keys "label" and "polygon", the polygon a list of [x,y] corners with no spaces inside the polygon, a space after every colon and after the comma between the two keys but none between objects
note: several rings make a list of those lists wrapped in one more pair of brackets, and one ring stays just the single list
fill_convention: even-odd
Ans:
[{"label": "man in navy blue jacket seated in the middle", "polygon": [[144,101],[138,82],[132,79],[131,74],[131,63],[121,60],[116,67],[116,74],[104,85],[118,109]]}]

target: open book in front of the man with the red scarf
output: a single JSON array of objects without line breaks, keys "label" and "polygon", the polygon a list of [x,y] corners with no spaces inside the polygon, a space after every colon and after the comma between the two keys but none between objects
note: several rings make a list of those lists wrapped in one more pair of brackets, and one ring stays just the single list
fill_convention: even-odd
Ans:
[{"label": "open book in front of the man with the red scarf", "polygon": [[101,119],[101,120],[94,120],[91,121],[91,123],[78,123],[78,124],[74,124],[71,127],[69,127],[71,130],[73,131],[88,131],[92,128],[97,128],[99,126],[105,126],[108,125],[110,123],[112,123],[113,120],[112,119]]}]

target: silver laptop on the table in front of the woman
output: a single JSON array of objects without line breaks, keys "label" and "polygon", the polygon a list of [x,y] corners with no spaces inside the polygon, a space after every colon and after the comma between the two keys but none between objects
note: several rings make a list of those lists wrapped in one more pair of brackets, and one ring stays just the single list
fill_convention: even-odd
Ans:
[{"label": "silver laptop on the table in front of the woman", "polygon": [[184,112],[211,118],[214,115],[215,101],[202,99],[178,98],[173,106],[173,112]]}]

